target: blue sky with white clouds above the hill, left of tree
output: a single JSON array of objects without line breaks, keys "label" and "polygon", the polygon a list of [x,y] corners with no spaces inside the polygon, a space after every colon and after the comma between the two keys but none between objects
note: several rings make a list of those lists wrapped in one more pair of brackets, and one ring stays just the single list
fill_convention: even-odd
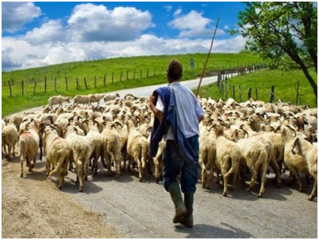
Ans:
[{"label": "blue sky with white clouds above the hill, left of tree", "polygon": [[242,2],[2,2],[2,71],[116,57],[237,53]]}]

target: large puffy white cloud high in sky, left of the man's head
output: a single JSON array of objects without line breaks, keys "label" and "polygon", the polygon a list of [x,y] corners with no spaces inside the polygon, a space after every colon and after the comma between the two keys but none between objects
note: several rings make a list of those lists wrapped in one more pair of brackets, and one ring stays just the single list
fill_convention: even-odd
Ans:
[{"label": "large puffy white cloud high in sky, left of the man's head", "polygon": [[153,27],[152,16],[130,7],[113,11],[103,5],[77,5],[68,20],[68,34],[72,41],[128,41]]}]

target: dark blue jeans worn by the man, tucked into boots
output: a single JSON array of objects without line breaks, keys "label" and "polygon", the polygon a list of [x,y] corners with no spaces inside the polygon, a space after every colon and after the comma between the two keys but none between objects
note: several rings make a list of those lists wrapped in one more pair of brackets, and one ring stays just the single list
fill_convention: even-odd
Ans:
[{"label": "dark blue jeans worn by the man, tucked into boots", "polygon": [[[195,152],[199,152],[198,136],[187,139]],[[163,184],[166,191],[168,187],[177,182],[177,177],[181,175],[181,188],[183,193],[194,193],[198,178],[198,158],[196,164],[183,159],[177,150],[175,141],[167,140],[166,148],[163,152]]]}]

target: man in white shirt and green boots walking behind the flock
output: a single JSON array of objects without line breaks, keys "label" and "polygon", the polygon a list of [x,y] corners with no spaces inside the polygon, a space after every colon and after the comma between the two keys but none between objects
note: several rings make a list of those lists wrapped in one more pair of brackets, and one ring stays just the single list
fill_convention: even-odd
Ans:
[{"label": "man in white shirt and green boots walking behind the flock", "polygon": [[[149,106],[155,115],[150,154],[152,157],[156,155],[158,143],[164,137],[163,185],[175,206],[173,223],[193,227],[199,122],[204,118],[204,111],[192,91],[180,84],[182,73],[182,64],[172,60],[167,68],[169,85],[156,89],[150,97]],[[179,175],[180,184],[177,180]]]}]

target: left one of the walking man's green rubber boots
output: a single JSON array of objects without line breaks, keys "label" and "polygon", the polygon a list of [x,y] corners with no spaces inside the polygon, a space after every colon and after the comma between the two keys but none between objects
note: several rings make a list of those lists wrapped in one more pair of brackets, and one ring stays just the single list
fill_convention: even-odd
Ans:
[{"label": "left one of the walking man's green rubber boots", "polygon": [[184,221],[184,217],[187,213],[187,210],[183,202],[182,193],[179,188],[179,184],[172,183],[168,187],[168,192],[170,193],[175,206],[175,216],[173,218],[173,223],[182,223]]}]

